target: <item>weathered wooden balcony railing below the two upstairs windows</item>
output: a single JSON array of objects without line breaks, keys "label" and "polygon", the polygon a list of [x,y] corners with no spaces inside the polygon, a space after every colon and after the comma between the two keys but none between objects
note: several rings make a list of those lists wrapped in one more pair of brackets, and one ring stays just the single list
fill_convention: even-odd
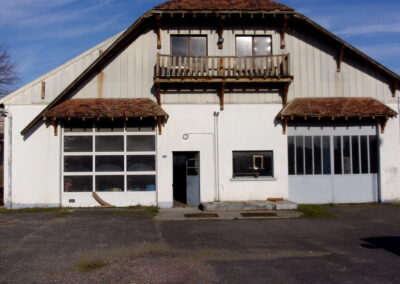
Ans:
[{"label": "weathered wooden balcony railing below the two upstairs windows", "polygon": [[290,81],[289,55],[157,55],[155,81]]}]

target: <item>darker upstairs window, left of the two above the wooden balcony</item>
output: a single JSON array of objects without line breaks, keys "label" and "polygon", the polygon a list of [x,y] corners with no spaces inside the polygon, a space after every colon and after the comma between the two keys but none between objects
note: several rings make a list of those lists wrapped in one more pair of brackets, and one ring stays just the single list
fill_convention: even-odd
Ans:
[{"label": "darker upstairs window, left of the two above the wooden balcony", "polygon": [[207,37],[171,36],[171,53],[178,56],[207,56]]}]

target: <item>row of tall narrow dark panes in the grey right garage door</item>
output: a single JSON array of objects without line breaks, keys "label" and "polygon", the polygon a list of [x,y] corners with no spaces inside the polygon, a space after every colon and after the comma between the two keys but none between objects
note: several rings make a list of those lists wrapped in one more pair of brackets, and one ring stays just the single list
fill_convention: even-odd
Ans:
[{"label": "row of tall narrow dark panes in the grey right garage door", "polygon": [[375,135],[289,136],[289,175],[331,174],[331,161],[336,175],[377,173],[376,139]]}]

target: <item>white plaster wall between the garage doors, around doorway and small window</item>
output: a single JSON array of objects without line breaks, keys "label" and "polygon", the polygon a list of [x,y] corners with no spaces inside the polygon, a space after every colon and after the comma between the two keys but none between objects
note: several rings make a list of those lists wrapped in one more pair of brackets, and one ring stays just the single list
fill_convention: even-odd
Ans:
[{"label": "white plaster wall between the garage doors, around doorway and small window", "polygon": [[[282,127],[274,124],[281,105],[164,105],[170,115],[158,138],[158,204],[171,207],[173,201],[173,152],[200,151],[200,198],[215,196],[213,135],[215,111],[219,115],[219,192],[221,201],[265,200],[288,197],[287,140]],[[189,133],[184,140],[183,134]],[[198,133],[198,134],[190,134]],[[232,180],[232,151],[273,150],[273,180]]]}]

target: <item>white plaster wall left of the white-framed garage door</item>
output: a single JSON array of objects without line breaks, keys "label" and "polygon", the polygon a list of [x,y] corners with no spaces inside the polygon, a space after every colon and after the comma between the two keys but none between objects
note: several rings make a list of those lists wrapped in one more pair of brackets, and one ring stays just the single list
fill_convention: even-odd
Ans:
[{"label": "white plaster wall left of the white-framed garage door", "polygon": [[21,130],[43,106],[7,106],[12,117],[11,185],[9,192],[10,119],[5,125],[5,185],[7,207],[46,207],[60,204],[60,138],[54,128],[38,124],[30,136]]}]

